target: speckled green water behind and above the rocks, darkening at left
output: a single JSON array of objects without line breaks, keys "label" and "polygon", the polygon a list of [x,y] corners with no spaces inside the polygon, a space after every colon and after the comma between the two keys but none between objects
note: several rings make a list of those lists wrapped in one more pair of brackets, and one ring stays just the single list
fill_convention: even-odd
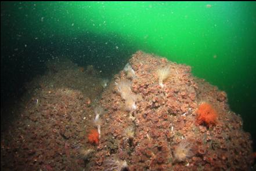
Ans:
[{"label": "speckled green water behind and above the rocks, darkening at left", "polygon": [[255,2],[1,2],[1,104],[49,58],[113,75],[136,50],[225,90],[256,139]]}]

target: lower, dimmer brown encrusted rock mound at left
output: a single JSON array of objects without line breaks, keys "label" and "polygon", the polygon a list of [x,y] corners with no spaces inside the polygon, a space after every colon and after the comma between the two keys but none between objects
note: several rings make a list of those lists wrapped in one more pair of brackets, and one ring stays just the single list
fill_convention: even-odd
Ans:
[{"label": "lower, dimmer brown encrusted rock mound at left", "polygon": [[99,72],[67,59],[51,60],[47,68],[27,83],[22,107],[1,130],[3,170],[82,170],[84,156],[93,152],[87,134],[103,90]]}]

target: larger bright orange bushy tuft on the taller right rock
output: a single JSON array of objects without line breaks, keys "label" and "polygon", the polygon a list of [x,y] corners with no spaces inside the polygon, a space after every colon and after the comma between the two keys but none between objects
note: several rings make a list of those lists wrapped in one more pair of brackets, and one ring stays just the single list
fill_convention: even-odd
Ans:
[{"label": "larger bright orange bushy tuft on the taller right rock", "polygon": [[196,122],[201,124],[216,125],[218,114],[211,104],[201,103],[197,108],[197,120]]}]

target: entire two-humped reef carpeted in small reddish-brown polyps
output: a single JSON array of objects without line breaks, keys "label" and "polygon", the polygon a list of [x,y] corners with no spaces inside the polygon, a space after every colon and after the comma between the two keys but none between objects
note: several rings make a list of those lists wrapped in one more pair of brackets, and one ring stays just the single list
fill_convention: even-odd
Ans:
[{"label": "entire two-humped reef carpeted in small reddish-brown polyps", "polygon": [[67,87],[77,88],[36,86],[21,119],[1,136],[1,169],[249,170],[253,165],[251,136],[230,110],[226,93],[194,77],[189,66],[139,51],[109,81],[96,77],[92,66],[81,71],[66,61],[60,68],[41,82],[58,78],[59,83],[66,75]]}]

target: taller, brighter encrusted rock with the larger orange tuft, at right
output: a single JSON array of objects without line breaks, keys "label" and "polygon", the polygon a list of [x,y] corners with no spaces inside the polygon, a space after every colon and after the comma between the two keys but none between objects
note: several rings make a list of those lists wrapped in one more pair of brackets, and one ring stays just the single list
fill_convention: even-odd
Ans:
[{"label": "taller, brighter encrusted rock with the larger orange tuft, at right", "polygon": [[188,66],[136,52],[99,104],[106,113],[91,170],[248,170],[253,164],[250,134],[226,93],[193,77]]}]

